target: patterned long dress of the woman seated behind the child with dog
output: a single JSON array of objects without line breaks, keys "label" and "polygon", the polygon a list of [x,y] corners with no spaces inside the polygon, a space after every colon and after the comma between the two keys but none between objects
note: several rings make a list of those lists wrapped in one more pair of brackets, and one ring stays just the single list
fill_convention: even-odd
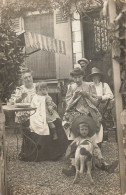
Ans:
[{"label": "patterned long dress of the woman seated behind the child with dog", "polygon": [[[76,91],[82,91],[89,93],[89,98],[84,98],[82,95],[79,95],[75,100],[73,100],[73,94]],[[66,130],[66,134],[69,140],[74,140],[75,137],[71,131],[71,124],[72,122],[79,116],[79,115],[89,115],[91,116],[94,121],[97,123],[97,130],[100,130],[101,126],[101,119],[102,116],[99,110],[96,108],[96,100],[92,97],[92,93],[90,91],[90,83],[82,82],[82,85],[77,86],[76,83],[71,85],[67,94],[66,94],[66,104],[67,104],[67,112],[64,115],[63,125],[65,127],[66,123],[69,123],[69,129]],[[98,141],[99,142],[99,141]],[[97,143],[98,143],[97,142]]]}]

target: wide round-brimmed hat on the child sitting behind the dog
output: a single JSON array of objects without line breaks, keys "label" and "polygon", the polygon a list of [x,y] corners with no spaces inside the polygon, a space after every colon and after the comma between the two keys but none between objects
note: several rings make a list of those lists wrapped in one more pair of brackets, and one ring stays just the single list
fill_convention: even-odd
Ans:
[{"label": "wide round-brimmed hat on the child sitting behind the dog", "polygon": [[89,127],[89,137],[92,137],[97,130],[97,124],[95,121],[90,117],[86,115],[80,115],[78,116],[72,123],[71,126],[71,132],[74,134],[75,137],[79,135],[79,124],[85,123],[85,125]]}]

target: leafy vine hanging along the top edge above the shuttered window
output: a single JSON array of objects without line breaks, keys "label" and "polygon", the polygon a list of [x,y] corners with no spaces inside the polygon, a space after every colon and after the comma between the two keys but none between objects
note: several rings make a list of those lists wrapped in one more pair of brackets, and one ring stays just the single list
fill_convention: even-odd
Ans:
[{"label": "leafy vine hanging along the top edge above the shuttered window", "polygon": [[2,6],[2,16],[9,19],[23,16],[28,11],[52,12],[58,8],[67,17],[74,11],[81,14],[101,5],[102,0],[11,0]]}]

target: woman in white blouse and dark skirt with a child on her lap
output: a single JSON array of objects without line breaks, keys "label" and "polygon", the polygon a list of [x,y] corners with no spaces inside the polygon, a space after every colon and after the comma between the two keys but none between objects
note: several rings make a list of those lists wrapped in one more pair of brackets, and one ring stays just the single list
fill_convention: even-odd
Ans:
[{"label": "woman in white blouse and dark skirt with a child on her lap", "polygon": [[[33,79],[30,71],[23,72],[22,75],[24,85],[22,85],[15,94],[14,102],[31,103],[36,96],[36,85],[33,84]],[[38,105],[39,107],[40,105]],[[42,113],[43,114],[43,111]],[[29,113],[19,112],[16,114],[16,122],[22,125],[23,142],[20,160],[23,161],[43,161],[57,160],[61,157],[68,145],[68,140],[62,128],[60,118],[55,118],[53,121],[56,129],[57,139],[53,139],[51,130],[46,123],[46,116],[43,117],[44,131],[39,128],[38,131],[33,131],[29,128],[30,120]],[[40,124],[42,121],[40,121]],[[36,129],[35,129],[36,130]],[[55,130],[54,130],[55,131]],[[41,133],[40,133],[41,132]],[[53,131],[52,131],[53,132]]]}]

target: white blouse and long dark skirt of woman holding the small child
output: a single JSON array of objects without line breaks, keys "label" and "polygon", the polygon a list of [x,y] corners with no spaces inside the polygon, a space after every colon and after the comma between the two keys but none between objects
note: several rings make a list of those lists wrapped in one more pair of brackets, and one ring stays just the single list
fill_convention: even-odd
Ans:
[{"label": "white blouse and long dark skirt of woman holding the small child", "polygon": [[[23,102],[31,103],[33,96],[35,95],[35,86],[30,89],[30,93],[28,89],[21,86],[15,94],[15,100],[16,97],[19,98],[19,96],[24,92],[24,89],[27,90],[28,96]],[[58,139],[53,140],[50,129],[48,129],[48,133],[45,133],[45,135],[39,135],[36,132],[31,132],[29,117],[26,117],[25,115],[25,117],[22,118],[23,115],[25,115],[25,113],[18,113],[16,116],[17,122],[21,123],[23,135],[19,159],[26,162],[58,160],[65,153],[68,146],[68,140],[62,127],[61,120],[57,118],[57,120],[54,121]]]}]

